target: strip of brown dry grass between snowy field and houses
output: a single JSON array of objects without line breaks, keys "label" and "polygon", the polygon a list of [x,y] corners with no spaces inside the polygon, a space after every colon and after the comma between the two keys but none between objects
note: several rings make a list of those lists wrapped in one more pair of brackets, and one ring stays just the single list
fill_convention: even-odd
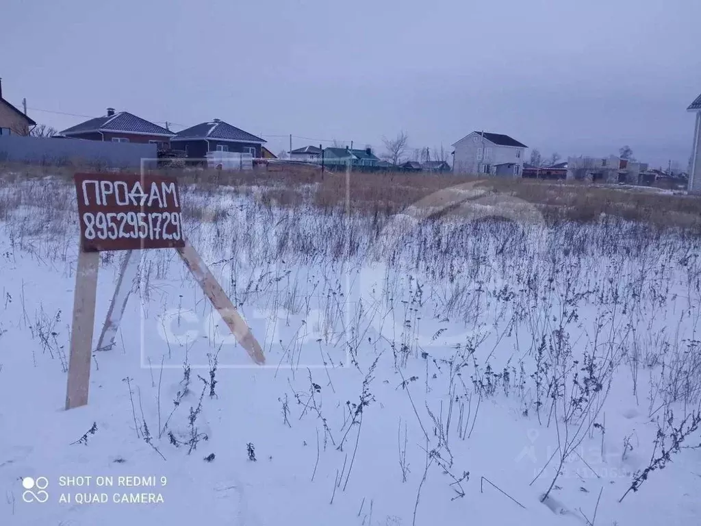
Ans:
[{"label": "strip of brown dry grass between snowy field and houses", "polygon": [[[51,175],[71,180],[89,167],[48,167],[27,164],[0,165],[0,190],[13,183],[39,180]],[[493,196],[510,196],[531,203],[550,224],[563,221],[596,222],[604,216],[620,217],[654,227],[701,231],[701,198],[669,194],[653,189],[605,186],[576,181],[499,179],[470,175],[428,175],[421,173],[321,173],[313,168],[252,170],[158,170],[173,175],[180,184],[200,191],[217,192],[230,187],[240,194],[256,192],[264,203],[298,208],[315,205],[324,210],[345,208],[360,215],[390,215],[437,191],[472,183]],[[12,194],[0,194],[0,216],[20,203],[9,203]]]}]

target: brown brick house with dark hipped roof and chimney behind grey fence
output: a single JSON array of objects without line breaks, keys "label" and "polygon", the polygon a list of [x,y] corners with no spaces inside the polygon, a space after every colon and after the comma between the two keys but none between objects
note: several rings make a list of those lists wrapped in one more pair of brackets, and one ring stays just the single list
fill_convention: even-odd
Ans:
[{"label": "brown brick house with dark hipped roof and chimney behind grey fence", "polygon": [[107,108],[107,115],[76,124],[60,135],[94,141],[156,144],[158,149],[165,149],[175,133],[129,112]]}]

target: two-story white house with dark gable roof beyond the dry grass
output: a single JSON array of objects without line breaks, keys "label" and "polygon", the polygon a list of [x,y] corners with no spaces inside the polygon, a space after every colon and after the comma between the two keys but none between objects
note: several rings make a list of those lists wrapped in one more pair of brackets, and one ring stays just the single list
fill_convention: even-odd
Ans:
[{"label": "two-story white house with dark gable roof beyond the dry grass", "polygon": [[508,135],[474,131],[453,147],[454,173],[522,177],[527,146]]}]

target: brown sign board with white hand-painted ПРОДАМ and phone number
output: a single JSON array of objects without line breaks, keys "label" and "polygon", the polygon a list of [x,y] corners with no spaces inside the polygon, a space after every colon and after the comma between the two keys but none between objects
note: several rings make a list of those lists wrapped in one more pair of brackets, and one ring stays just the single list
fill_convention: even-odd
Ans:
[{"label": "brown sign board with white hand-painted \u041f\u0420\u041e\u0414\u0410\u041c and phone number", "polygon": [[74,180],[83,251],[185,246],[175,178],[76,173]]}]

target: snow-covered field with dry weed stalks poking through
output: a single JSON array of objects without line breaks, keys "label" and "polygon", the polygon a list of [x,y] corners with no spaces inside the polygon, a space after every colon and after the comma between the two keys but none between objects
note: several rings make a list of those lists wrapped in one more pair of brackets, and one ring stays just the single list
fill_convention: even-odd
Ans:
[{"label": "snow-covered field with dry weed stalks poking through", "polygon": [[74,189],[0,179],[0,525],[701,524],[698,237],[182,191],[266,365],[151,250],[66,412]]}]

